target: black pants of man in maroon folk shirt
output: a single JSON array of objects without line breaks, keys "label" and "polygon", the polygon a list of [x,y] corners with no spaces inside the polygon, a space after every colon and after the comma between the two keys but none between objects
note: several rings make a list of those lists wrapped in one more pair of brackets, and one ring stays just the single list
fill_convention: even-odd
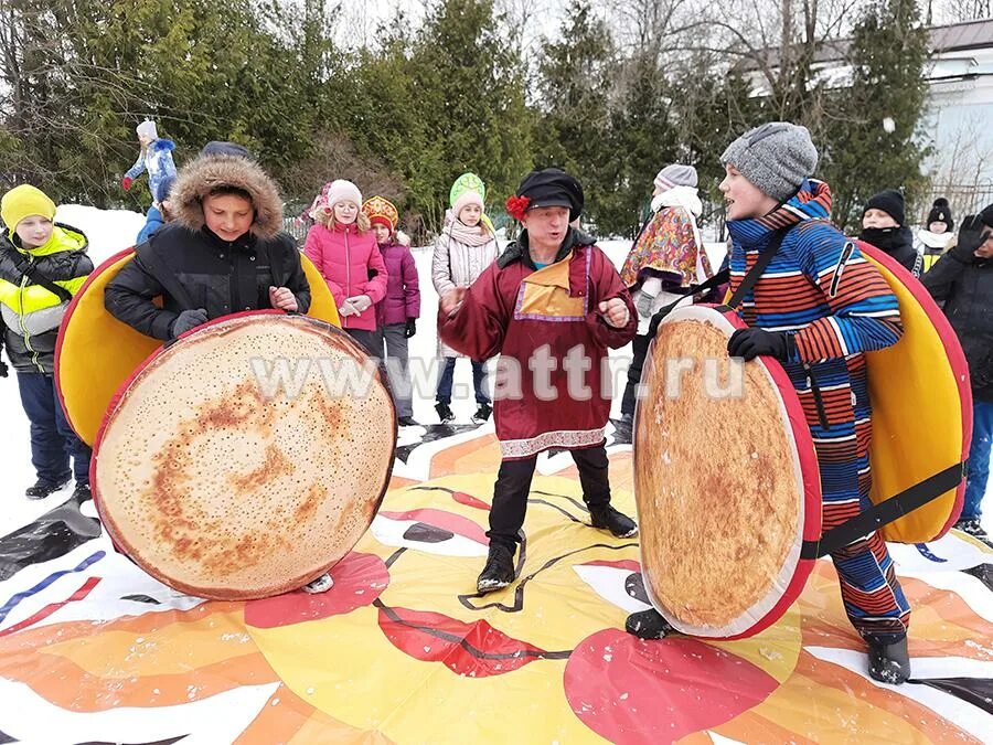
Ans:
[{"label": "black pants of man in maroon folk shirt", "polygon": [[[579,469],[583,485],[583,501],[590,508],[610,503],[610,482],[607,478],[607,449],[597,447],[573,450],[573,460]],[[519,532],[524,525],[527,511],[527,494],[537,456],[526,460],[504,460],[496,473],[493,488],[493,507],[490,509],[490,530],[487,535],[491,543],[502,543],[515,551],[521,541]]]}]

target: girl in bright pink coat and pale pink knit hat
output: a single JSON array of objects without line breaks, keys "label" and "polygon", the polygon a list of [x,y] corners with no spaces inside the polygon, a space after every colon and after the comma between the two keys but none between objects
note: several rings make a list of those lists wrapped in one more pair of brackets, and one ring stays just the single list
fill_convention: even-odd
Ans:
[{"label": "girl in bright pink coat and pale pink knit hat", "polygon": [[341,316],[341,328],[370,354],[376,352],[375,305],[386,296],[386,264],[362,214],[362,193],[351,181],[327,184],[311,215],[303,253],[314,263]]}]

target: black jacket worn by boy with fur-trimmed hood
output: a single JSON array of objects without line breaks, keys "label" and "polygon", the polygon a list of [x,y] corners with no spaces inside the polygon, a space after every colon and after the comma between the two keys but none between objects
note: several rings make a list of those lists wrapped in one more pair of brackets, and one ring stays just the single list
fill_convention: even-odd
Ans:
[{"label": "black jacket worn by boy with fur-trimmed hood", "polygon": [[[269,287],[287,287],[299,312],[310,308],[310,285],[292,237],[263,240],[246,233],[227,242],[202,227],[170,224],[136,249],[104,294],[104,305],[141,333],[169,340],[183,310],[207,318],[271,308]],[[152,302],[161,296],[162,308]],[[184,297],[185,296],[185,297]]]}]

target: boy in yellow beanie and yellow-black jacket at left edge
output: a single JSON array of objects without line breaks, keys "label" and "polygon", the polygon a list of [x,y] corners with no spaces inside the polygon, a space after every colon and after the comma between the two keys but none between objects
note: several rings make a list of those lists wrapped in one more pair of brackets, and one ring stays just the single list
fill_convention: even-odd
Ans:
[{"label": "boy in yellow beanie and yellow-black jacket at left edge", "polygon": [[[89,499],[89,448],[76,436],[55,390],[55,343],[70,299],[93,272],[86,236],[54,222],[55,203],[21,184],[0,201],[0,347],[18,373],[21,405],[31,422],[31,462],[38,475],[24,492],[44,499],[70,479],[73,497]],[[0,362],[0,377],[8,369]]]}]

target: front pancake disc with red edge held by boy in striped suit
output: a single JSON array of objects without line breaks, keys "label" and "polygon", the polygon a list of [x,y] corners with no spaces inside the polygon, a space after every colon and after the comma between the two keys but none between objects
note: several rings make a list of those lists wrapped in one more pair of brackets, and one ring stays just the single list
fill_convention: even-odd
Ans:
[{"label": "front pancake disc with red edge held by boy in striped suit", "polygon": [[728,358],[734,328],[708,307],[670,315],[645,362],[634,427],[649,597],[679,630],[719,638],[781,615],[783,596],[799,594],[804,523],[820,525],[820,494],[805,494],[811,477],[819,489],[799,401],[788,413],[783,381],[764,360]]}]

